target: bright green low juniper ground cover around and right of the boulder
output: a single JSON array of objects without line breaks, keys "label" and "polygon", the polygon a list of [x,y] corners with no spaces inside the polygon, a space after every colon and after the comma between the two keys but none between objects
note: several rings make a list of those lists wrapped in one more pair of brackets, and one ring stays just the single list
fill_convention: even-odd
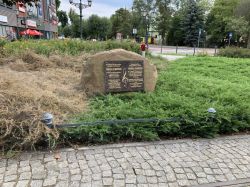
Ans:
[{"label": "bright green low juniper ground cover around and right of the boulder", "polygon": [[[90,111],[74,122],[171,117],[181,120],[66,129],[61,141],[105,143],[214,137],[250,129],[250,60],[188,57],[168,64],[163,59],[153,61],[160,70],[155,92],[92,98]],[[210,107],[216,109],[216,115],[208,114]]]}]

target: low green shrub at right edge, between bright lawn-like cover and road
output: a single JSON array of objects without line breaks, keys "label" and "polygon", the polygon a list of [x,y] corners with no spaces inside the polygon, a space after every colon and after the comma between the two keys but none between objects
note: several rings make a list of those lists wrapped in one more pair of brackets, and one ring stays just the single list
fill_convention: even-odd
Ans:
[{"label": "low green shrub at right edge, between bright lawn-like cover and road", "polygon": [[219,50],[219,56],[230,58],[250,58],[250,49],[239,47],[226,47]]}]

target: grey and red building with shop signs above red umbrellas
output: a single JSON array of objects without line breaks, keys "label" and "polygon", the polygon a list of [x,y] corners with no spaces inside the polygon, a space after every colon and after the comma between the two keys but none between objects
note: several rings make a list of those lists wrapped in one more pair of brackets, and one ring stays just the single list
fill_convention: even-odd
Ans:
[{"label": "grey and red building with shop signs above red umbrellas", "polygon": [[57,37],[57,24],[55,0],[40,0],[31,5],[20,1],[13,6],[0,0],[0,37],[10,31],[20,37],[21,31],[35,29],[43,33],[41,38],[52,39]]}]

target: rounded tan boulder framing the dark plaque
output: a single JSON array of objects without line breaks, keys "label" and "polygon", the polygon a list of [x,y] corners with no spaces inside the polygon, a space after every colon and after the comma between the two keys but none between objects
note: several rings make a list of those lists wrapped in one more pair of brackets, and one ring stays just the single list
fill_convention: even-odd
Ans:
[{"label": "rounded tan boulder framing the dark plaque", "polygon": [[81,78],[82,88],[88,95],[105,93],[104,62],[131,60],[143,61],[144,91],[154,91],[157,81],[156,66],[150,64],[148,59],[143,58],[141,55],[123,49],[100,52],[91,56],[83,66]]}]

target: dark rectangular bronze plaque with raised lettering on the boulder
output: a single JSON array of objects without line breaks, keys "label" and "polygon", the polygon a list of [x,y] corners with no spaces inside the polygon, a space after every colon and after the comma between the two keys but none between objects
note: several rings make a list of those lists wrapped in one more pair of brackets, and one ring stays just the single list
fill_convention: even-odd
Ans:
[{"label": "dark rectangular bronze plaque with raised lettering on the boulder", "polygon": [[105,92],[144,91],[143,61],[104,62]]}]

